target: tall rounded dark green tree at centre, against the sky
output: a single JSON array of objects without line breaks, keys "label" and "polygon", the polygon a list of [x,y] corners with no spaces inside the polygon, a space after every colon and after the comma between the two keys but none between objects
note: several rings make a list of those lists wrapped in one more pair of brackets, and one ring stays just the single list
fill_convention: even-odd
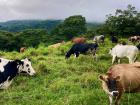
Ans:
[{"label": "tall rounded dark green tree at centre, against the sky", "polygon": [[56,27],[52,34],[71,39],[74,36],[81,35],[87,31],[86,20],[81,15],[70,16],[62,24]]}]

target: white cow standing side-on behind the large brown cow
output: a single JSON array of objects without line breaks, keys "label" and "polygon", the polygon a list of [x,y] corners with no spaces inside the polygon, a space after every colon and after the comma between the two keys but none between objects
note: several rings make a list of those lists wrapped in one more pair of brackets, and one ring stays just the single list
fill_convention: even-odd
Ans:
[{"label": "white cow standing side-on behind the large brown cow", "polygon": [[120,63],[120,58],[127,57],[129,63],[134,63],[138,54],[138,48],[133,45],[116,45],[109,52],[112,55],[112,64],[116,58],[119,58],[118,63]]}]

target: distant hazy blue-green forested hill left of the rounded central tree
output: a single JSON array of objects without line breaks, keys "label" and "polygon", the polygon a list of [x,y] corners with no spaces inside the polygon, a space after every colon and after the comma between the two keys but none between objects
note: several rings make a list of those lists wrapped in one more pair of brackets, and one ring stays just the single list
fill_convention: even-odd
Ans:
[{"label": "distant hazy blue-green forested hill left of the rounded central tree", "polygon": [[0,30],[20,32],[26,29],[47,29],[51,31],[61,22],[62,20],[12,20],[0,22]]}]

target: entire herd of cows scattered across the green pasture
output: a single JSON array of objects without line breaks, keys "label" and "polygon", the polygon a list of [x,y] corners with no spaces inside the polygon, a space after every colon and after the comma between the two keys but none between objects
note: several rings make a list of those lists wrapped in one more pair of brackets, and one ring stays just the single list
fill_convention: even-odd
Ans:
[{"label": "entire herd of cows scattered across the green pasture", "polygon": [[[128,45],[126,42],[118,43],[119,40],[116,36],[111,36],[110,41],[116,43],[109,51],[109,54],[112,56],[112,64],[114,64],[116,59],[118,59],[118,63],[120,63],[123,57],[127,57],[129,60],[129,64],[113,65],[108,69],[106,74],[99,76],[99,80],[102,81],[102,88],[109,96],[110,105],[113,105],[113,102],[115,105],[118,105],[124,92],[140,91],[140,62],[135,62],[139,53],[140,44],[134,46]],[[140,37],[130,37],[128,41],[139,42]],[[72,39],[72,43],[74,44],[66,52],[65,58],[70,58],[72,54],[75,55],[75,57],[88,53],[92,54],[93,57],[96,56],[100,43],[105,43],[105,36],[95,36],[93,42],[94,43],[87,43],[84,37]],[[57,48],[64,43],[63,41],[50,47]],[[20,53],[23,53],[25,49],[25,47],[21,48]],[[6,89],[10,86],[16,75],[22,72],[30,76],[36,74],[28,58],[22,60],[0,58],[0,89]]]}]

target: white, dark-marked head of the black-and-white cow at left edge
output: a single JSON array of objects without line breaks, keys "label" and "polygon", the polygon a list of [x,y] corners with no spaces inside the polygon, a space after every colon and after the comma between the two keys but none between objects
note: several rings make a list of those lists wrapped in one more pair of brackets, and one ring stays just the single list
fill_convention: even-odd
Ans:
[{"label": "white, dark-marked head of the black-and-white cow at left edge", "polygon": [[23,62],[23,68],[20,72],[26,72],[31,76],[35,75],[36,72],[31,65],[31,61],[28,58],[22,59],[21,61]]}]

